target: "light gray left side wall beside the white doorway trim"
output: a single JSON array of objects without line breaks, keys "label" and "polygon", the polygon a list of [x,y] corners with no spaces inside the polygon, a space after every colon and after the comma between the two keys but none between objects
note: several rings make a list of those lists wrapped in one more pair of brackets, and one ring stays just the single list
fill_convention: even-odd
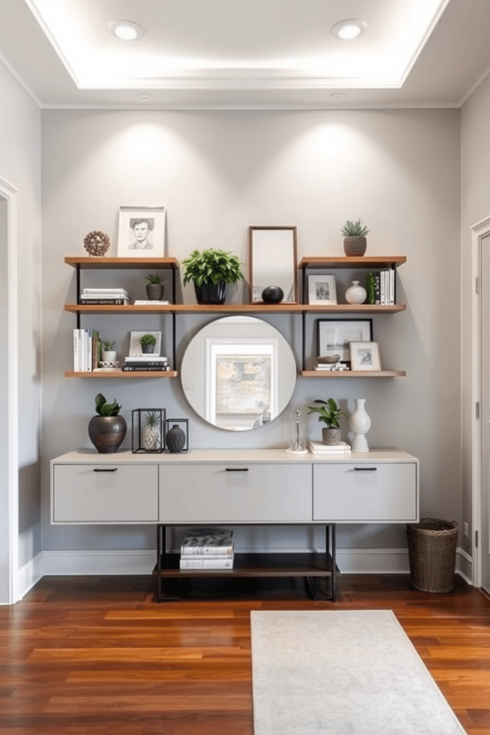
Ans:
[{"label": "light gray left side wall beside the white doorway trim", "polygon": [[[0,176],[18,190],[19,564],[40,536],[40,110],[0,63]],[[2,268],[6,262],[2,258]],[[6,328],[2,322],[2,329]],[[0,404],[6,417],[6,407]],[[2,494],[6,488],[1,487]]]}]

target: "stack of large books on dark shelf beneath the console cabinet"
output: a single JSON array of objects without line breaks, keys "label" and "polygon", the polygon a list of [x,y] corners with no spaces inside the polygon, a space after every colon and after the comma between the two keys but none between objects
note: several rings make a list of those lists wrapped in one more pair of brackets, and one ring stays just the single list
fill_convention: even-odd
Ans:
[{"label": "stack of large books on dark shelf beneath the console cabinet", "polygon": [[181,543],[181,569],[233,569],[233,531],[194,531]]}]

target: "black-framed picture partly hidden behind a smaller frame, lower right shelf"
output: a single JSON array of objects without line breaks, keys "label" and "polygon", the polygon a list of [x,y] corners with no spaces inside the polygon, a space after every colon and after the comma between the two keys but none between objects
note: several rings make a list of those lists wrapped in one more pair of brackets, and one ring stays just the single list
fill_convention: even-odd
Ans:
[{"label": "black-framed picture partly hidden behind a smaller frame, lower right shelf", "polygon": [[350,362],[351,342],[372,342],[372,319],[317,319],[317,356]]}]

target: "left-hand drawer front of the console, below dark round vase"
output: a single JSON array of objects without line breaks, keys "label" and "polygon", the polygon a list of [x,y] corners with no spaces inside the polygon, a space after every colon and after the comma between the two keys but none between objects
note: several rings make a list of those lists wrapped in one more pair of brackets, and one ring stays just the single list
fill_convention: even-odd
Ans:
[{"label": "left-hand drawer front of the console, below dark round vase", "polygon": [[54,465],[52,509],[53,523],[157,523],[158,465]]}]

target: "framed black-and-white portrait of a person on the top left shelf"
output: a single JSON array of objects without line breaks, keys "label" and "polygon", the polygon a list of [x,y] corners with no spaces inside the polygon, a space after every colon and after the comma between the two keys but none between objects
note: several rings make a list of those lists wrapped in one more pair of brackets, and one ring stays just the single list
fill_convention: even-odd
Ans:
[{"label": "framed black-and-white portrait of a person on the top left shelf", "polygon": [[120,207],[118,258],[165,255],[165,207]]}]

